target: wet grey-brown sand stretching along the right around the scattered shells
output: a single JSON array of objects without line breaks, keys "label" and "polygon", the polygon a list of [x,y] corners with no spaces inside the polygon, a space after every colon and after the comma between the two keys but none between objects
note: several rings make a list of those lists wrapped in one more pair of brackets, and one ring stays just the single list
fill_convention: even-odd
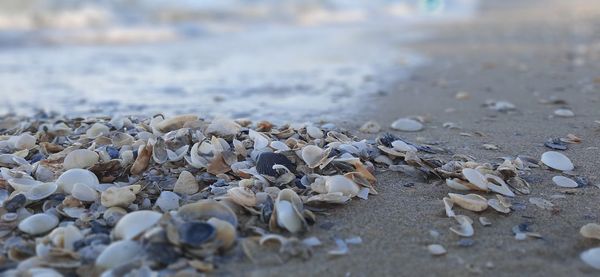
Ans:
[{"label": "wet grey-brown sand stretching along the right around the scattered shells", "polygon": [[[564,151],[575,164],[575,172],[590,183],[600,183],[600,5],[595,1],[482,1],[481,14],[470,21],[422,26],[432,38],[412,48],[426,54],[431,63],[397,85],[397,91],[369,103],[367,115],[342,125],[356,130],[367,120],[385,129],[403,116],[426,116],[426,129],[416,133],[393,132],[415,141],[437,141],[452,153],[468,154],[477,161],[502,156],[528,155],[539,158],[550,149],[548,138],[572,133],[583,142]],[[596,81],[594,81],[596,80]],[[455,99],[458,91],[470,98]],[[552,96],[567,105],[547,105]],[[500,113],[482,107],[487,99],[507,100],[515,112]],[[572,118],[552,117],[562,106],[575,112]],[[447,112],[448,108],[455,109]],[[460,129],[443,128],[454,122]],[[462,136],[460,133],[482,135]],[[359,134],[361,135],[361,134]],[[361,136],[364,136],[362,134]],[[491,143],[499,150],[485,150]],[[326,275],[326,276],[597,276],[579,254],[600,243],[584,239],[579,228],[600,220],[600,190],[594,186],[562,193],[551,178],[556,172],[533,169],[526,176],[531,195],[517,196],[526,208],[502,215],[491,210],[481,214],[459,208],[476,219],[486,216],[490,227],[474,223],[474,245],[457,245],[459,237],[448,228],[442,197],[450,189],[425,183],[396,172],[378,173],[377,196],[352,201],[321,217],[311,234],[326,243],[308,261],[292,260],[277,266],[241,263],[223,268],[233,275]],[[553,199],[564,195],[564,199]],[[542,210],[530,197],[551,200],[557,212]],[[323,223],[333,224],[329,230]],[[518,241],[511,229],[530,223],[543,239]],[[433,238],[430,230],[440,233]],[[350,245],[350,253],[328,258],[332,236],[360,236],[361,245]],[[448,253],[432,257],[431,243]]]}]

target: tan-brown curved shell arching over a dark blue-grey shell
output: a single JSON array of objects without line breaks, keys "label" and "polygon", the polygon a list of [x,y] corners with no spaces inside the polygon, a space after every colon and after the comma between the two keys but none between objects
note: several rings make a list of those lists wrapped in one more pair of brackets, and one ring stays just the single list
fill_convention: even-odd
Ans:
[{"label": "tan-brown curved shell arching over a dark blue-grey shell", "polygon": [[211,217],[229,222],[237,227],[237,216],[227,205],[224,205],[216,200],[203,199],[198,202],[186,204],[179,208],[177,214],[186,221],[190,220],[207,220]]}]

